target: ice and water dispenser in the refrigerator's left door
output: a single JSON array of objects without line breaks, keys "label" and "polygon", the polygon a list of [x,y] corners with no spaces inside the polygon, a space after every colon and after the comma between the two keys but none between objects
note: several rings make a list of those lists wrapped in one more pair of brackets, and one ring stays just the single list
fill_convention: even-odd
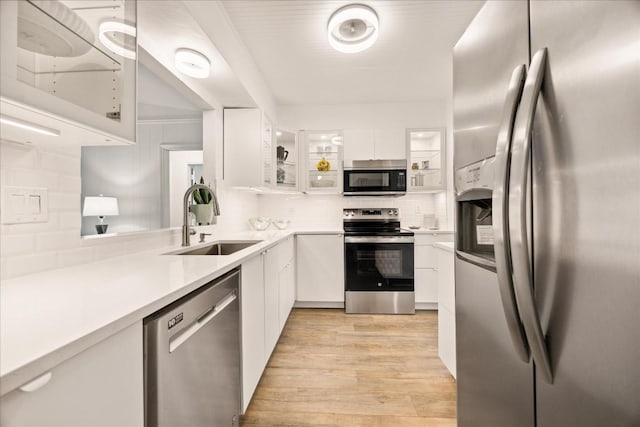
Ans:
[{"label": "ice and water dispenser in the refrigerator's left door", "polygon": [[492,195],[494,160],[490,157],[456,170],[457,254],[495,271]]}]

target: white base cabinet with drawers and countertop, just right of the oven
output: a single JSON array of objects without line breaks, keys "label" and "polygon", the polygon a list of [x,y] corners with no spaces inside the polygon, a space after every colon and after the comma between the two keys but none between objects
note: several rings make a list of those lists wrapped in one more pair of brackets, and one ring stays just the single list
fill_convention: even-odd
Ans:
[{"label": "white base cabinet with drawers and countertop, just right of the oven", "polygon": [[451,242],[453,234],[416,233],[414,247],[414,286],[416,308],[433,310],[438,304],[437,256],[433,244]]}]

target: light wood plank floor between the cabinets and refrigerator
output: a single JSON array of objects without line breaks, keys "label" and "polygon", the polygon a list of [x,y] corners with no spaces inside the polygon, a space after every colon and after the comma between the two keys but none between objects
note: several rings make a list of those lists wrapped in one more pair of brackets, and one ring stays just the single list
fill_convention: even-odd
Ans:
[{"label": "light wood plank floor between the cabinets and refrigerator", "polygon": [[456,425],[438,314],[294,309],[241,426]]}]

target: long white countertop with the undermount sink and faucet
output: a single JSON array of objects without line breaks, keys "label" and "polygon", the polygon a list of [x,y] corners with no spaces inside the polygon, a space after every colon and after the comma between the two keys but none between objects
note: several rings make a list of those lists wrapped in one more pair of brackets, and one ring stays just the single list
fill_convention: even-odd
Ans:
[{"label": "long white countertop with the undermount sink and faucet", "polygon": [[343,233],[215,233],[208,242],[262,242],[224,256],[163,255],[180,248],[154,248],[2,281],[0,394],[45,373],[296,232]]}]

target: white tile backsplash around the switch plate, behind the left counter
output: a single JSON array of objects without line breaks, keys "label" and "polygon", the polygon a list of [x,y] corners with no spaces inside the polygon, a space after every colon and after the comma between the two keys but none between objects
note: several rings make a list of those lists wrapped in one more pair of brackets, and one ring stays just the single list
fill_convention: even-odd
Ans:
[{"label": "white tile backsplash around the switch plate, behind the left counter", "polygon": [[0,142],[0,182],[44,187],[47,222],[0,226],[0,278],[22,276],[179,244],[179,230],[109,238],[80,237],[80,147],[64,143],[23,146]]}]

